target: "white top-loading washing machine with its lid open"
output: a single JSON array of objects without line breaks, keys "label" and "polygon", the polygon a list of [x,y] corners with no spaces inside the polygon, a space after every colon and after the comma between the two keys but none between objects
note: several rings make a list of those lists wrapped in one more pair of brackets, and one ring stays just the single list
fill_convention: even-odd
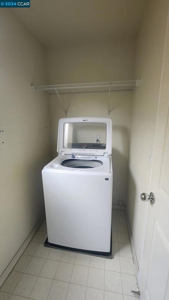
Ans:
[{"label": "white top-loading washing machine with its lid open", "polygon": [[59,155],[42,170],[45,246],[111,255],[112,120],[59,120]]}]

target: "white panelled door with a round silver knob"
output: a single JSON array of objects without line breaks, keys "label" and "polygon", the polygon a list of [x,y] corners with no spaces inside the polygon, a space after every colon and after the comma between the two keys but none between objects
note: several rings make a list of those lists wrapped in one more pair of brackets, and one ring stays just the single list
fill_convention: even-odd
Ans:
[{"label": "white panelled door with a round silver knob", "polygon": [[169,300],[168,26],[164,49],[161,91],[149,192],[153,192],[155,194],[155,203],[152,204],[150,201],[148,202],[143,257],[139,274],[140,299]]}]

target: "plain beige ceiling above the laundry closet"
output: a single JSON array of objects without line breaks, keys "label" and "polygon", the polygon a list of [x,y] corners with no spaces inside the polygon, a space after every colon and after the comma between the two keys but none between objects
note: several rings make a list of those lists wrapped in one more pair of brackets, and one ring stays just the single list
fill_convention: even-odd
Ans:
[{"label": "plain beige ceiling above the laundry closet", "polygon": [[32,0],[14,8],[46,47],[136,35],[146,0]]}]

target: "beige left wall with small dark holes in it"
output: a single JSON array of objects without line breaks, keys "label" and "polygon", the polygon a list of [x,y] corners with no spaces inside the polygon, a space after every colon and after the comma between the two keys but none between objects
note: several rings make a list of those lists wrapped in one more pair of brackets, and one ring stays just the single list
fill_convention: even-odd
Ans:
[{"label": "beige left wall with small dark holes in it", "polygon": [[48,102],[30,91],[46,82],[44,51],[10,8],[0,27],[1,275],[44,214],[41,170],[51,155]]}]

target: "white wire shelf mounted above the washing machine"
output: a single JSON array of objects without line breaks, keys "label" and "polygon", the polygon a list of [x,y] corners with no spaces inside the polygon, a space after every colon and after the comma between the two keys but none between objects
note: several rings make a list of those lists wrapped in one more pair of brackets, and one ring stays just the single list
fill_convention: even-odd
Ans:
[{"label": "white wire shelf mounted above the washing machine", "polygon": [[[83,92],[133,91],[140,80],[107,81],[92,83],[73,83],[59,85],[32,86],[32,91],[44,91],[47,94],[69,94]],[[57,92],[56,92],[57,91]]]}]

